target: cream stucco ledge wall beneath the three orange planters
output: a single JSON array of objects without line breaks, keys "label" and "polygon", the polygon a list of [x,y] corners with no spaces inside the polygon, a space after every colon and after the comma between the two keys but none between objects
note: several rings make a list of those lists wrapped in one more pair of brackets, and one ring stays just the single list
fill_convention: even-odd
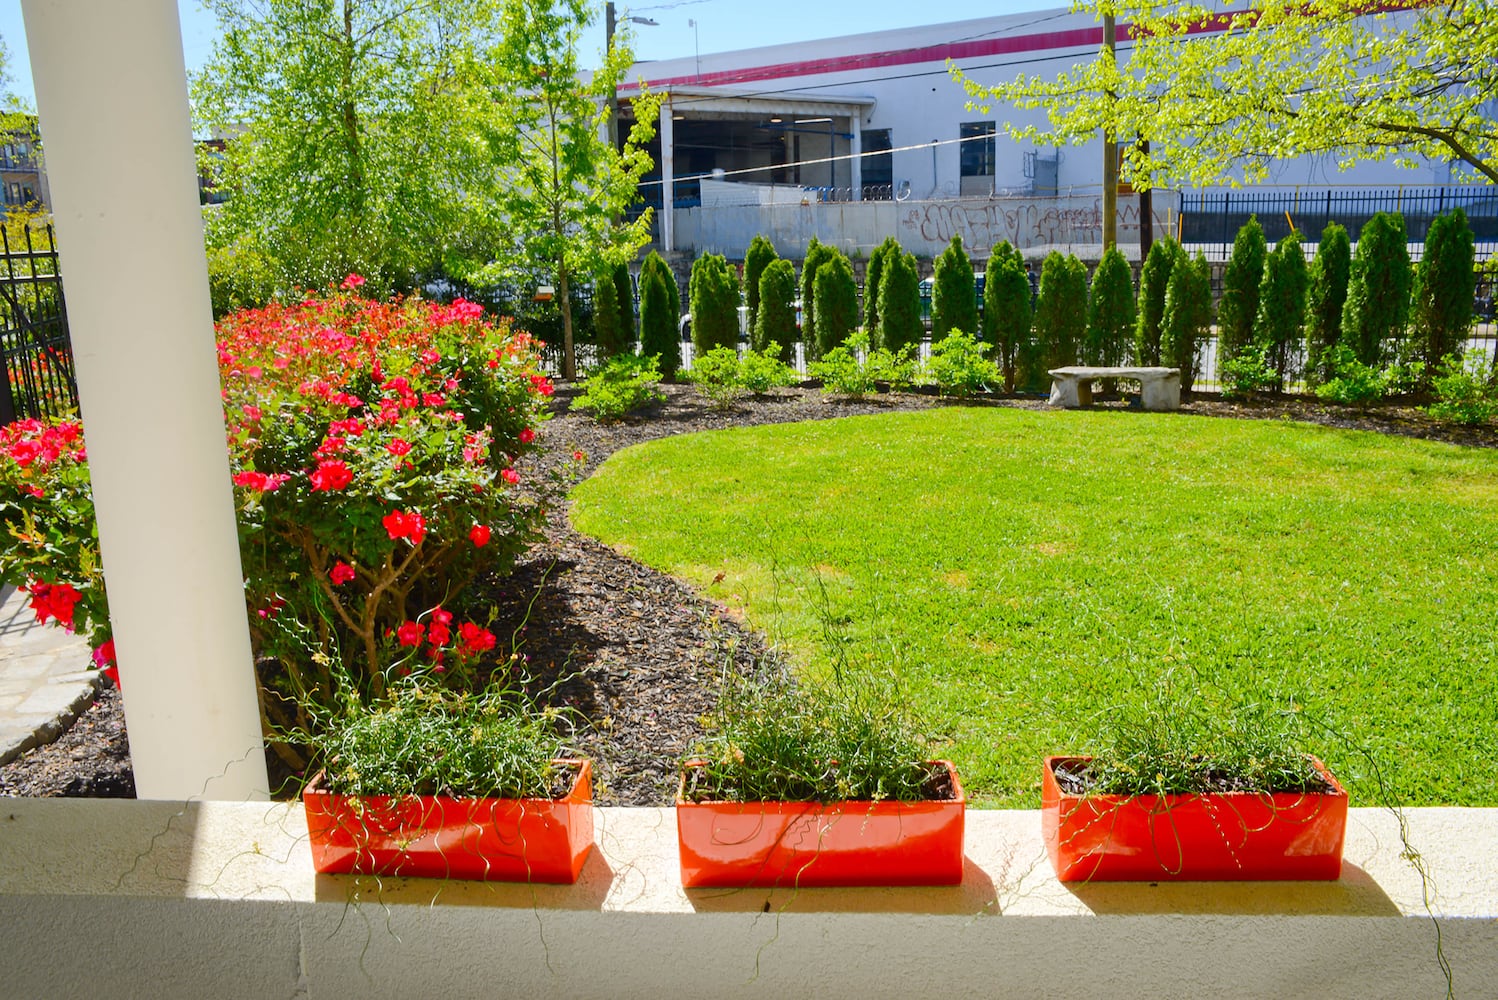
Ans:
[{"label": "cream stucco ledge wall beneath the three orange planters", "polygon": [[[1498,810],[1410,810],[1456,996],[1498,996]],[[1332,883],[1058,883],[1034,811],[969,811],[956,888],[692,891],[670,810],[598,814],[575,886],[316,876],[300,807],[0,808],[15,997],[1443,996],[1393,817]]]}]

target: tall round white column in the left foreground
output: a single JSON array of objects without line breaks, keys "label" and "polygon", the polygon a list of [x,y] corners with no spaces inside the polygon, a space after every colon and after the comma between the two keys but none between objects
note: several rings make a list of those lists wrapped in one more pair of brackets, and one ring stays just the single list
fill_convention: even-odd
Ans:
[{"label": "tall round white column in the left foreground", "polygon": [[175,0],[22,0],[141,798],[265,798]]}]

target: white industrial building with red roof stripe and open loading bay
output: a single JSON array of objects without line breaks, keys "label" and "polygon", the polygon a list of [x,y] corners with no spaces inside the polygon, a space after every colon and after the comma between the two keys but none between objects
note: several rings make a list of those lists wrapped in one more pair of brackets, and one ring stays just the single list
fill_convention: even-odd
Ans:
[{"label": "white industrial building with red roof stripe and open loading bay", "polygon": [[[1396,15],[1401,16],[1401,15]],[[1119,28],[1119,54],[1129,43]],[[953,234],[980,254],[1101,243],[1101,139],[1086,147],[1019,144],[998,115],[968,111],[948,61],[980,82],[1052,78],[1097,57],[1103,28],[1070,9],[849,34],[737,52],[637,63],[664,93],[646,201],[668,250],[742,254],[755,232],[797,254],[810,235],[863,253],[894,234],[936,253]],[[1043,112],[1016,112],[1044,121]],[[1023,121],[1025,118],[1017,118]],[[1272,169],[1270,190],[1419,189],[1459,181],[1449,162],[1338,171],[1330,157]],[[664,192],[673,198],[664,198]],[[1158,192],[1155,232],[1174,231],[1180,193]],[[1227,214],[1227,213],[1224,213]],[[1119,243],[1138,241],[1138,199],[1119,199]]]}]

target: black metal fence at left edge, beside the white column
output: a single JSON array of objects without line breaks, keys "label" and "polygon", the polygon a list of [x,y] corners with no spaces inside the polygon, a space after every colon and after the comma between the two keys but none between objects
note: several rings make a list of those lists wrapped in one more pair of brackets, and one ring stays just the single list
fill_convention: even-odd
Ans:
[{"label": "black metal fence at left edge, beside the white column", "polygon": [[[52,228],[12,235],[0,226],[0,425],[78,409],[67,305]],[[25,247],[16,246],[18,240]],[[40,246],[39,246],[40,243]]]}]

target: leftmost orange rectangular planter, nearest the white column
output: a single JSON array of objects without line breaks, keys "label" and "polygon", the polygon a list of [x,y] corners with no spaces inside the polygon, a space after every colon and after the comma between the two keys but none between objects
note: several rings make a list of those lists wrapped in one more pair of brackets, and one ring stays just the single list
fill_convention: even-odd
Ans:
[{"label": "leftmost orange rectangular planter, nearest the white column", "polygon": [[303,792],[312,864],[328,874],[577,882],[593,847],[593,766],[572,768],[563,798],[334,795],[318,774]]}]

